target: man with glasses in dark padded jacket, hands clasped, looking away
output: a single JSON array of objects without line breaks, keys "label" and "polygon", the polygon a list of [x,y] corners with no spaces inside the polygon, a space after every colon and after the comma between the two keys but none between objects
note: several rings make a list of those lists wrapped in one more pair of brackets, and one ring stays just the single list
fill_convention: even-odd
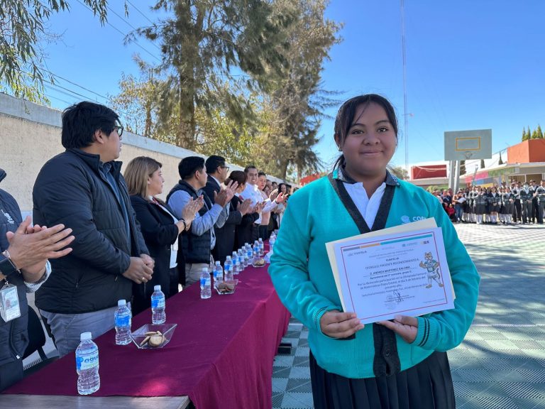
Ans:
[{"label": "man with glasses in dark padded jacket, hands clasped, looking away", "polygon": [[118,300],[129,302],[133,283],[153,274],[116,161],[122,134],[111,109],[72,105],[62,113],[66,151],[48,160],[35,181],[35,224],[64,224],[76,237],[72,253],[51,260],[55,273],[35,298],[60,356],[76,349],[82,332],[96,338],[113,328]]}]

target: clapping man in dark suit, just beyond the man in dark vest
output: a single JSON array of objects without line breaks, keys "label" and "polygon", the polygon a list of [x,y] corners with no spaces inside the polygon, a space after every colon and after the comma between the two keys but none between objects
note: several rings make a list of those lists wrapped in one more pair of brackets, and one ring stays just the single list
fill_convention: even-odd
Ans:
[{"label": "clapping man in dark suit, just beyond the man in dark vest", "polygon": [[[209,156],[205,163],[208,172],[207,185],[203,188],[210,200],[214,203],[214,197],[221,190],[221,183],[224,183],[229,172],[229,166],[225,165],[225,158],[221,156]],[[227,206],[224,211],[228,213],[223,227],[214,227],[216,233],[216,246],[212,250],[214,260],[225,262],[227,256],[231,256],[235,241],[235,226],[241,224],[244,214],[250,211],[250,203],[238,205],[236,209],[232,205]]]}]

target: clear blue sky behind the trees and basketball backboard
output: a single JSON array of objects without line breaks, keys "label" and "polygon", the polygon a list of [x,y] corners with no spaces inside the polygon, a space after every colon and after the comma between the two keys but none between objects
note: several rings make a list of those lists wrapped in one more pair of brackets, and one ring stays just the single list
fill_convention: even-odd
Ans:
[{"label": "clear blue sky behind the trees and basketball backboard", "polygon": [[[45,45],[50,71],[106,95],[118,92],[121,72],[138,74],[134,53],[156,61],[136,44],[123,45],[121,33],[101,27],[77,0],[70,3],[70,13],[50,20],[50,30],[62,34],[56,44]],[[131,3],[153,20],[146,7],[153,1]],[[122,4],[111,1],[111,9],[123,16]],[[375,92],[392,101],[400,122],[400,144],[392,160],[396,165],[404,165],[407,134],[411,164],[443,160],[444,131],[491,128],[492,151],[497,152],[519,142],[523,126],[545,126],[545,1],[405,1],[407,132],[400,2],[332,0],[326,16],[344,27],[343,42],[334,46],[324,65],[324,88],[343,92],[341,99]],[[149,23],[136,9],[126,20],[133,26]],[[131,31],[113,13],[109,23],[123,33]],[[159,56],[155,45],[138,43]],[[73,84],[59,84],[104,102]],[[59,109],[83,99],[47,92]],[[334,116],[336,109],[327,114]],[[323,121],[320,134],[316,150],[331,163],[337,154],[332,119]]]}]

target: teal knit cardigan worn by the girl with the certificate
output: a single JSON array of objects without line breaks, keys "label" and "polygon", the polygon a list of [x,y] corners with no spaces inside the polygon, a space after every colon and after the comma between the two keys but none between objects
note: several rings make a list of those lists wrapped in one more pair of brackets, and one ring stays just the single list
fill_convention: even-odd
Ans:
[{"label": "teal knit cardigan worn by the girl with the certificate", "polygon": [[[448,268],[456,291],[455,308],[418,317],[417,338],[411,344],[396,335],[401,370],[426,359],[433,351],[460,344],[475,315],[479,276],[466,248],[438,200],[408,182],[395,187],[386,226],[434,217],[443,231]],[[269,267],[282,303],[309,328],[309,347],[319,366],[347,378],[373,374],[372,325],[354,339],[338,340],[322,334],[320,318],[342,310],[325,244],[360,234],[327,178],[302,187],[290,197]]]}]

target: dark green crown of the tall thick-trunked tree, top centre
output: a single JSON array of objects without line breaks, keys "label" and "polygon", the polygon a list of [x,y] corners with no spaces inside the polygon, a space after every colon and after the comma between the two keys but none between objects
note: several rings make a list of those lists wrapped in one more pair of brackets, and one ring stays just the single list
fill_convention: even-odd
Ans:
[{"label": "dark green crown of the tall thick-trunked tree, top centre", "polygon": [[165,81],[158,121],[165,126],[177,116],[176,144],[197,146],[196,109],[219,109],[239,127],[253,119],[244,92],[231,91],[241,85],[246,92],[265,89],[280,73],[288,49],[285,27],[293,16],[273,15],[270,1],[261,0],[159,0],[152,9],[167,16],[127,40],[144,36],[160,43],[157,69]]}]

